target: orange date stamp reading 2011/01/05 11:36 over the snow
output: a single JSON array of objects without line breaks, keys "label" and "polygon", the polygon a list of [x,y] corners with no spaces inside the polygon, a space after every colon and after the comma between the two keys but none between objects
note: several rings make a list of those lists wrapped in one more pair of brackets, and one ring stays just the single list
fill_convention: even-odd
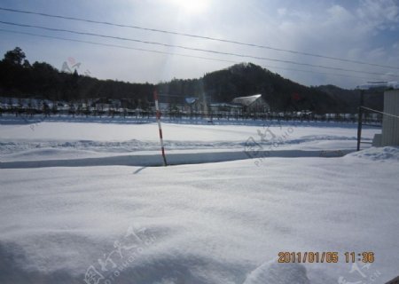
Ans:
[{"label": "orange date stamp reading 2011/01/05 11:36 over the snow", "polygon": [[[345,257],[345,262],[355,263],[356,261],[361,261],[363,263],[373,263],[374,262],[374,253],[372,251],[364,251],[362,253],[357,253],[354,251],[343,253]],[[356,257],[357,256],[357,257]],[[287,264],[287,263],[309,263],[309,264],[336,264],[340,261],[340,255],[336,251],[323,251],[323,252],[313,252],[313,251],[304,251],[304,252],[288,252],[288,251],[280,251],[278,252],[278,263]]]}]

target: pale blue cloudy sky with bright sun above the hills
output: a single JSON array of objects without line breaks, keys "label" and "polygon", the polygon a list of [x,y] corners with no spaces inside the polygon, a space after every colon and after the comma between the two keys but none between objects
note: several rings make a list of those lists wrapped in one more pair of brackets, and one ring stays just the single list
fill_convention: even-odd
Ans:
[{"label": "pale blue cloudy sky with bright sun above the hills", "polygon": [[101,79],[117,79],[133,83],[159,83],[174,77],[197,78],[207,72],[233,64],[210,60],[220,59],[233,62],[251,61],[305,85],[332,83],[340,87],[354,88],[357,84],[367,81],[399,80],[399,76],[395,76],[399,74],[398,0],[2,0],[0,7],[210,36],[396,67],[373,67],[133,28],[116,28],[0,11],[1,20],[15,23],[121,36],[204,50],[381,74],[369,75],[361,72],[329,70],[265,59],[247,59],[203,51],[182,50],[176,47],[162,47],[0,24],[0,28],[13,31],[207,58],[187,58],[176,54],[134,51],[0,31],[0,52],[2,54],[12,50],[15,46],[20,46],[31,62],[45,61],[59,69],[63,62],[67,62],[70,66],[79,62],[81,65],[78,72],[87,74],[90,72],[91,76]]}]

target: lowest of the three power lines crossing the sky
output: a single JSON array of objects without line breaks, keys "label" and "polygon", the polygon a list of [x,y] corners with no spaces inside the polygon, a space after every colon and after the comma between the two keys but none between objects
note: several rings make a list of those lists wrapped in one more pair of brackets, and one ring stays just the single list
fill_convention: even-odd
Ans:
[{"label": "lowest of the three power lines crossing the sky", "polygon": [[[97,43],[97,42],[92,42],[92,41],[83,41],[83,40],[78,40],[78,39],[73,39],[73,38],[66,38],[66,37],[59,37],[59,36],[38,35],[38,34],[15,31],[15,30],[9,30],[9,29],[3,29],[3,28],[0,28],[0,31],[6,32],[6,33],[12,33],[12,34],[27,35],[27,36],[39,36],[39,37],[57,39],[57,40],[62,40],[62,41],[74,42],[74,43],[90,43],[90,44],[94,44],[94,45],[100,45],[100,46],[106,46],[106,47],[115,47],[115,48],[128,49],[128,50],[134,50],[134,51],[147,51],[147,52],[166,54],[166,55],[174,55],[174,56],[180,56],[180,57],[186,57],[186,58],[205,59],[205,60],[212,60],[212,61],[228,62],[228,63],[233,63],[233,64],[240,63],[239,61],[233,61],[233,60],[227,60],[227,59],[212,59],[212,58],[195,56],[195,55],[188,55],[188,54],[182,54],[182,53],[176,53],[176,52],[168,52],[168,51],[149,50],[149,49],[143,49],[143,48],[137,48],[137,47],[131,47],[131,46],[125,46],[125,45],[119,45],[119,44],[112,44],[112,43]],[[317,71],[311,71],[311,70],[294,69],[294,68],[286,68],[286,67],[276,67],[276,66],[269,66],[269,65],[268,66],[261,65],[261,67],[276,68],[276,69],[289,70],[289,71],[298,71],[298,72],[307,72],[307,73],[313,73],[313,74],[319,74],[319,75],[335,75],[335,76],[343,76],[343,77],[354,77],[354,78],[360,78],[360,79],[370,79],[368,77],[361,77],[361,76],[356,76],[356,75],[344,75],[344,74],[337,74],[337,73],[317,72]]]}]

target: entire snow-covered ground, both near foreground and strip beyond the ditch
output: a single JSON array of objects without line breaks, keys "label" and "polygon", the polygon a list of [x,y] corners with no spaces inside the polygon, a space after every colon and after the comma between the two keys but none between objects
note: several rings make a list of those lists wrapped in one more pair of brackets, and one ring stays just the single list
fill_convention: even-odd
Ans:
[{"label": "entire snow-covered ground, both near foreground and strip beyond the ditch", "polygon": [[[354,124],[164,123],[169,159],[214,161],[170,167],[140,164],[159,152],[154,123],[31,126],[0,125],[0,283],[360,284],[399,275],[399,148],[342,156],[356,147]],[[140,162],[126,166],[128,156]],[[279,264],[279,252],[339,260]],[[345,252],[374,252],[374,261],[347,264]]]}]

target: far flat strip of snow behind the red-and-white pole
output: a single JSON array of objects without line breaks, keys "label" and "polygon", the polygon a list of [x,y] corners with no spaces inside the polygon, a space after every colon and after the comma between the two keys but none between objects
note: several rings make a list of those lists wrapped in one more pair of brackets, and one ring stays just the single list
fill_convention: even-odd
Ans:
[{"label": "far flat strip of snow behind the red-and-white pole", "polygon": [[[140,160],[143,162],[133,164],[149,165],[145,161],[151,159],[156,159],[151,165],[161,163],[157,159],[160,141],[155,122],[137,124],[123,120],[101,122],[90,119],[90,122],[80,122],[83,119],[72,118],[66,122],[48,120],[37,123],[25,123],[21,118],[10,117],[0,120],[3,122],[0,124],[0,162],[104,158],[115,155],[125,156],[126,159],[126,156],[131,157],[132,154],[156,154],[153,158],[142,157]],[[313,151],[315,153],[303,155],[314,156],[327,150],[356,149],[354,123],[224,121],[215,125],[163,123],[162,128],[167,153],[186,154],[184,159],[178,158],[177,163],[187,161],[187,154],[195,153],[223,152],[228,153],[225,157],[232,155],[231,159],[236,160],[245,158],[244,152],[254,150],[274,154],[278,150]],[[364,141],[371,142],[374,133],[378,132],[380,130],[374,128],[364,129]],[[290,155],[289,152],[285,154]],[[109,159],[101,160],[102,163],[97,163],[115,164],[113,159],[111,162]],[[223,159],[217,158],[216,161]]]}]

